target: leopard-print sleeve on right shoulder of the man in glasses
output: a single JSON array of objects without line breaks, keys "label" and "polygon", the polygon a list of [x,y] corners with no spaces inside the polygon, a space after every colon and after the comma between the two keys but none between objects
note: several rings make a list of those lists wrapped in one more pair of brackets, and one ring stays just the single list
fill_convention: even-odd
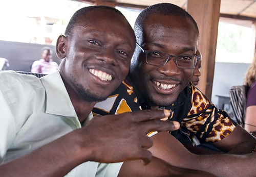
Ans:
[{"label": "leopard-print sleeve on right shoulder of the man in glasses", "polygon": [[210,103],[200,90],[191,85],[191,108],[181,123],[190,139],[196,136],[200,143],[217,142],[228,136],[236,125],[225,111]]}]

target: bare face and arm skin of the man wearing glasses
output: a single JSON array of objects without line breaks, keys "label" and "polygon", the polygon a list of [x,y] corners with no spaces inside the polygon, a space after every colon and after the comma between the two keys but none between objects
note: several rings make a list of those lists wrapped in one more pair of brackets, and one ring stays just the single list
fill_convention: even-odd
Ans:
[{"label": "bare face and arm skin of the man wearing glasses", "polygon": [[[150,15],[143,27],[143,32],[142,46],[145,50],[159,50],[170,55],[194,55],[196,52],[198,34],[194,24],[183,17]],[[188,48],[190,50],[186,50]],[[179,93],[188,85],[193,69],[179,69],[173,60],[167,62],[165,66],[152,66],[146,64],[145,57],[141,54],[138,60],[132,60],[131,73],[136,86],[151,102],[152,109],[156,109],[158,106],[168,106],[175,102]],[[152,80],[164,84],[176,84],[176,86],[169,90],[163,90],[157,87]],[[255,147],[256,140],[239,125],[227,137],[212,143],[228,154],[205,155],[215,154],[215,152],[211,151],[210,153],[196,146],[187,146],[188,150],[204,155],[192,154],[177,139],[166,132],[158,133],[152,139],[154,145],[150,150],[153,156],[170,165],[204,170],[227,177],[255,175],[255,170],[251,168],[251,165],[255,163],[256,157],[254,157],[255,153],[250,152]],[[212,162],[218,163],[212,165]],[[241,166],[241,164],[243,165]],[[139,168],[138,164],[137,167]]]}]

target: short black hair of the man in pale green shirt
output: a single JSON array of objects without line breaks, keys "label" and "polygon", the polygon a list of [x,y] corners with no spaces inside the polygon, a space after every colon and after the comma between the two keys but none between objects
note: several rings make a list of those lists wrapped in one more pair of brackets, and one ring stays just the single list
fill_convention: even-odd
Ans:
[{"label": "short black hair of the man in pale green shirt", "polygon": [[[83,7],[83,8],[81,8],[81,9],[77,10],[77,11],[73,14],[73,16],[71,17],[71,19],[70,19],[70,21],[69,21],[69,23],[68,23],[68,26],[67,26],[67,28],[66,28],[66,31],[65,31],[65,36],[67,36],[67,35],[72,36],[72,32],[73,32],[73,28],[74,28],[75,24],[76,24],[77,22],[81,21],[81,20],[84,20],[84,17],[85,17],[90,11],[95,10],[95,9],[107,9],[107,10],[112,10],[113,12],[116,12],[116,13],[118,13],[118,14],[120,14],[120,15],[123,16],[123,14],[122,14],[119,10],[117,10],[117,9],[115,9],[115,8],[113,8],[113,7],[110,7],[110,6],[101,6],[101,5],[99,5],[99,6]],[[123,16],[123,17],[124,17],[124,16]],[[125,18],[125,17],[124,17],[124,18]]]}]

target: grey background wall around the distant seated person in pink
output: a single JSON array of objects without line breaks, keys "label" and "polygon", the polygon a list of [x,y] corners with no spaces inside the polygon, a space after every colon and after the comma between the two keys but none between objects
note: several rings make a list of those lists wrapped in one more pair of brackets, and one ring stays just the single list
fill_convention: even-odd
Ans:
[{"label": "grey background wall around the distant seated person in pink", "polygon": [[48,46],[52,49],[52,59],[59,64],[61,59],[56,56],[54,45],[0,40],[0,58],[9,60],[9,70],[30,71],[32,63],[41,58],[41,48],[44,46]]}]

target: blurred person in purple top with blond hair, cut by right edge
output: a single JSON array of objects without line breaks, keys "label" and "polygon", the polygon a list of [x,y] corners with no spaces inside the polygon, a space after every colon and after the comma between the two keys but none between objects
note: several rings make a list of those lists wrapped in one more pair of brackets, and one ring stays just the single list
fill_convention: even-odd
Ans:
[{"label": "blurred person in purple top with blond hair, cut by right edge", "polygon": [[256,134],[256,53],[246,71],[244,85],[249,87],[245,114],[245,130],[253,136]]}]

